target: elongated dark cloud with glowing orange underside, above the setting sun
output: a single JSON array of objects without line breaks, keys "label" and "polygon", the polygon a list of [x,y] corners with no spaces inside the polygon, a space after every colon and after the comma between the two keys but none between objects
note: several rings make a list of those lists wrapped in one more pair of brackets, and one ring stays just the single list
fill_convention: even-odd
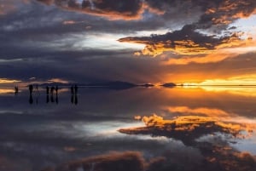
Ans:
[{"label": "elongated dark cloud with glowing orange underside, above the setting sun", "polygon": [[234,33],[225,37],[213,37],[195,31],[194,26],[184,26],[180,31],[168,32],[165,35],[151,35],[151,37],[120,38],[121,43],[145,44],[144,55],[157,56],[164,52],[174,54],[195,55],[212,54],[221,48],[233,48],[244,45],[241,33]]}]

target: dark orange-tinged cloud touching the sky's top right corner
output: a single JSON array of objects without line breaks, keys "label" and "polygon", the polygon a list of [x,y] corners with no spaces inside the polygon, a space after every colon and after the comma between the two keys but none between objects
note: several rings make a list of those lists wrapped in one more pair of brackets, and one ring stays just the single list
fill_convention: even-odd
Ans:
[{"label": "dark orange-tinged cloud touching the sky's top right corner", "polygon": [[195,22],[197,28],[208,28],[211,26],[227,26],[234,20],[240,19],[242,17],[248,17],[253,14],[256,3],[253,0],[214,0],[214,1],[172,1],[172,0],[147,0],[149,6],[160,11],[168,10],[173,6],[183,6],[187,9],[187,13],[191,9],[199,8],[202,11],[201,19]]}]

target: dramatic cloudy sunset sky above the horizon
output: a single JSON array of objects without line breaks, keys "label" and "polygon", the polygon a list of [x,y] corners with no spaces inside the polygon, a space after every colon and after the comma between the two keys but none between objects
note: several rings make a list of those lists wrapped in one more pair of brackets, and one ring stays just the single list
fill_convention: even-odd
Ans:
[{"label": "dramatic cloudy sunset sky above the horizon", "polygon": [[0,0],[0,84],[256,84],[255,0]]}]

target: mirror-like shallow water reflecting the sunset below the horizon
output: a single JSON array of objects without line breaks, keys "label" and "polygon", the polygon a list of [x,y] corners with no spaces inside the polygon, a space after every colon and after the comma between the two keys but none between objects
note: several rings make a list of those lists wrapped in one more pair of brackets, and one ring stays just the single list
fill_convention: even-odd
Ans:
[{"label": "mirror-like shallow water reflecting the sunset below the horizon", "polygon": [[[0,170],[55,169],[81,158],[89,158],[89,169],[96,170],[96,157],[116,159],[127,153],[142,162],[137,170],[253,170],[255,92],[254,87],[79,88],[71,95],[61,88],[57,97],[47,97],[43,88],[32,96],[26,88],[18,94],[1,88]],[[181,132],[157,126],[179,117],[193,118],[189,125],[180,123]],[[148,129],[140,118],[160,122]],[[196,123],[201,119],[211,124]],[[221,127],[213,129],[212,123]],[[198,132],[191,131],[197,126]],[[154,127],[160,128],[157,133]],[[134,170],[123,167],[119,170]]]}]

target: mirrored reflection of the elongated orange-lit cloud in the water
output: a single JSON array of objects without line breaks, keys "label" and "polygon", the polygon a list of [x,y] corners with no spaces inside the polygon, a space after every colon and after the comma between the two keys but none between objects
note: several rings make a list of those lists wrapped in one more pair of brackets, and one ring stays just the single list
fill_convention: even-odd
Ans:
[{"label": "mirrored reflection of the elongated orange-lit cloud in the water", "polygon": [[166,136],[177,140],[182,140],[185,145],[195,144],[195,139],[205,134],[216,132],[239,136],[246,126],[238,123],[224,123],[214,117],[176,117],[172,120],[165,120],[156,115],[143,117],[146,127],[123,128],[120,133],[125,134],[152,134],[153,136]]}]

